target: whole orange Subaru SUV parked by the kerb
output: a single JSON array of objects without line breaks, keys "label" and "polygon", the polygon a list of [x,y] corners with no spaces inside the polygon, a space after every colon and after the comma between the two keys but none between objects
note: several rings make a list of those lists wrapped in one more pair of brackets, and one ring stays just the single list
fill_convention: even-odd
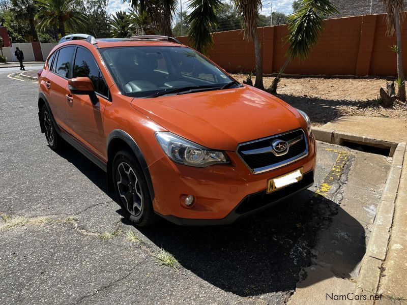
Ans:
[{"label": "whole orange Subaru SUV parked by the kerb", "polygon": [[68,35],[38,74],[49,147],[102,168],[138,226],[231,223],[313,184],[308,116],[174,38]]}]

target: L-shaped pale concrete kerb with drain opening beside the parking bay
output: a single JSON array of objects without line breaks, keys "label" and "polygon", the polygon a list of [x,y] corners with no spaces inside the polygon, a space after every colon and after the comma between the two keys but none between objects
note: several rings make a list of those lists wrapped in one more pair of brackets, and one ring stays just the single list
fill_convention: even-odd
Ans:
[{"label": "L-shaped pale concrete kerb with drain opening beside the parking bay", "polygon": [[[360,266],[357,286],[354,291],[354,295],[375,295],[379,288],[381,269],[386,258],[390,240],[395,201],[399,188],[406,144],[403,142],[396,143],[347,134],[324,128],[313,128],[312,132],[319,141],[351,148],[354,148],[355,145],[360,145],[362,148],[376,149],[380,154],[385,155],[387,152],[389,157],[393,157],[383,195],[377,206],[372,233]],[[360,303],[360,300],[355,299],[353,303]],[[373,304],[374,300],[367,300],[365,303]]]}]

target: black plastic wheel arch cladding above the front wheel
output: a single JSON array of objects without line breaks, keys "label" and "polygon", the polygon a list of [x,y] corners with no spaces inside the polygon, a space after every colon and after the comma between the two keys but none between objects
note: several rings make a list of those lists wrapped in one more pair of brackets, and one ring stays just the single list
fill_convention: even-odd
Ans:
[{"label": "black plastic wheel arch cladding above the front wheel", "polygon": [[136,141],[125,131],[120,129],[113,130],[107,137],[107,187],[109,191],[113,191],[113,179],[112,179],[112,166],[114,155],[122,149],[130,149],[136,160],[138,161],[140,167],[143,170],[144,178],[147,182],[147,187],[149,189],[151,200],[154,199],[154,188],[153,182],[151,180],[150,171],[147,167],[146,159],[141,152],[140,147],[137,145]]}]

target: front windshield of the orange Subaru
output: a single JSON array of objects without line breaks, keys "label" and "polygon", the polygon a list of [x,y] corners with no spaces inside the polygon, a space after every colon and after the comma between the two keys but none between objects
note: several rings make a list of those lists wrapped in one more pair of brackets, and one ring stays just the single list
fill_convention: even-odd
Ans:
[{"label": "front windshield of the orange Subaru", "polygon": [[[112,47],[99,49],[122,94],[150,97],[177,88],[221,88],[233,81],[186,47]],[[174,90],[172,90],[174,89]]]}]

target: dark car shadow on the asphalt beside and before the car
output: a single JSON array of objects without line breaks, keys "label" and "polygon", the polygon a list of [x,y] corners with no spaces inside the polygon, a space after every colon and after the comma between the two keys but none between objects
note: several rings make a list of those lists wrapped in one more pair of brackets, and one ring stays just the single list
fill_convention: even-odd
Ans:
[{"label": "dark car shadow on the asphalt beside and before the car", "polygon": [[[96,165],[74,148],[59,154],[115,200]],[[117,212],[124,215],[120,208]],[[125,218],[122,222],[132,225]],[[363,226],[310,190],[231,225],[186,227],[162,220],[135,229],[202,280],[240,296],[294,290],[306,276],[300,275],[302,268],[321,259],[336,277],[350,278],[366,252]],[[325,279],[316,276],[306,283]]]}]

